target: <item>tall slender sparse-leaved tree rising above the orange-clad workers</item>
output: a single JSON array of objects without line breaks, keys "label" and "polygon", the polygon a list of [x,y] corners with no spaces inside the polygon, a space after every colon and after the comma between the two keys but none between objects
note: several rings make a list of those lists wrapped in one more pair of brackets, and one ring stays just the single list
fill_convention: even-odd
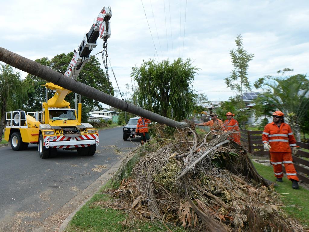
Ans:
[{"label": "tall slender sparse-leaved tree rising above the orange-clad workers", "polygon": [[[231,90],[234,90],[237,95],[239,95],[239,97],[236,96],[231,98],[230,101],[233,101],[237,107],[242,107],[235,109],[234,112],[237,111],[239,123],[244,125],[244,123],[248,121],[249,114],[248,111],[244,109],[246,105],[243,102],[243,93],[252,91],[252,84],[248,79],[248,67],[249,62],[253,59],[254,55],[249,54],[245,49],[243,49],[243,37],[241,35],[236,37],[235,43],[237,48],[235,50],[230,50],[234,69],[232,70],[230,77],[226,77],[224,81],[228,88],[231,88]],[[263,83],[264,78],[259,78],[253,86],[255,88],[260,88]]]}]

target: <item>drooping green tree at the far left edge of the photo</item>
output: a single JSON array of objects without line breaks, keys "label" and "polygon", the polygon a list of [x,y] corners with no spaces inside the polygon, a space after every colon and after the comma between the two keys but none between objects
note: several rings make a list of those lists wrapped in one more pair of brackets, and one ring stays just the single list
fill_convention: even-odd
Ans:
[{"label": "drooping green tree at the far left edge of the photo", "polygon": [[[14,111],[23,105],[27,94],[20,73],[8,64],[0,64],[0,131],[5,124],[6,111]],[[2,136],[0,136],[0,141]]]}]

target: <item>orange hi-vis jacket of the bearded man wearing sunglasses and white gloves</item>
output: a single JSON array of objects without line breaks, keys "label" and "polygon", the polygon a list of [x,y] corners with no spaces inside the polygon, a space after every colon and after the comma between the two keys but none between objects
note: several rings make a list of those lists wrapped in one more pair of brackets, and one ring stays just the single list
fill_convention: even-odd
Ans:
[{"label": "orange hi-vis jacket of the bearded man wearing sunglasses and white gloves", "polygon": [[276,123],[268,123],[262,135],[263,144],[271,146],[270,152],[291,152],[290,147],[295,147],[296,140],[289,124],[281,123],[280,127]]}]

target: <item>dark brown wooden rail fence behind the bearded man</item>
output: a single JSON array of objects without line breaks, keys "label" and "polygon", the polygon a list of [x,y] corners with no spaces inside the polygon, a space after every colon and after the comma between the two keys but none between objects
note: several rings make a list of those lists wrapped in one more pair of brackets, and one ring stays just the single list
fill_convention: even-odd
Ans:
[{"label": "dark brown wooden rail fence behind the bearded man", "polygon": [[[252,155],[269,156],[268,151],[264,151],[262,143],[263,131],[247,131],[240,129],[241,142]],[[309,144],[297,142],[300,148],[308,149]],[[292,155],[297,176],[300,180],[309,184],[309,152],[300,149],[296,155]],[[282,167],[285,172],[284,166]]]}]

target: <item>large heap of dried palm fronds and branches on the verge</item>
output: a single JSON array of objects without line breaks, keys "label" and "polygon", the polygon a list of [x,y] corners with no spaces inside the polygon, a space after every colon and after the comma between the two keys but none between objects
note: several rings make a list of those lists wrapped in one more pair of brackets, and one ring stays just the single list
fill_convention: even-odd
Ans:
[{"label": "large heap of dried palm fronds and branches on the verge", "polygon": [[230,133],[211,140],[188,128],[175,139],[158,135],[128,154],[110,207],[193,231],[303,231],[244,148],[227,140]]}]

